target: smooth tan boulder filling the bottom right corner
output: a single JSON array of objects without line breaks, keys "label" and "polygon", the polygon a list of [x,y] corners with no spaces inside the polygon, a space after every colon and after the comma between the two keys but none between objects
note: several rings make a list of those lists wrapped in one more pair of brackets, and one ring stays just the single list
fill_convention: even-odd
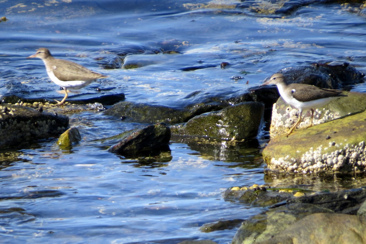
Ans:
[{"label": "smooth tan boulder filling the bottom right corner", "polygon": [[[311,224],[309,224],[311,223]],[[256,240],[258,244],[308,244],[308,243],[364,243],[366,217],[314,213],[291,225],[269,239]]]}]

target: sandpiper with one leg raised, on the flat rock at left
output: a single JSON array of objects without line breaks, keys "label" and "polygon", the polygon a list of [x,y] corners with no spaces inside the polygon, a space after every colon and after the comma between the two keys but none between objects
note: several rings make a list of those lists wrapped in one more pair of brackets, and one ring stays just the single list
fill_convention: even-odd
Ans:
[{"label": "sandpiper with one leg raised, on the flat rock at left", "polygon": [[65,103],[68,96],[67,89],[80,89],[89,85],[93,80],[107,77],[91,71],[80,64],[68,60],[55,59],[47,48],[38,49],[35,54],[27,57],[27,59],[33,57],[42,59],[49,78],[64,89],[65,97],[60,102],[55,100],[58,105]]}]

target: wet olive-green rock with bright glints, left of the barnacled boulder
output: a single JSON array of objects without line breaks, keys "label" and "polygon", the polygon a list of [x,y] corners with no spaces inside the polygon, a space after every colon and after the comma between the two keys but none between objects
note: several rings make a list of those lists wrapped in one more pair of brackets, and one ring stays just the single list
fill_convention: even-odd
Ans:
[{"label": "wet olive-green rock with bright glints, left of the barnacled boulder", "polygon": [[172,132],[222,140],[251,139],[258,134],[263,113],[264,105],[262,103],[243,102],[217,112],[196,116],[183,126],[174,125]]}]

